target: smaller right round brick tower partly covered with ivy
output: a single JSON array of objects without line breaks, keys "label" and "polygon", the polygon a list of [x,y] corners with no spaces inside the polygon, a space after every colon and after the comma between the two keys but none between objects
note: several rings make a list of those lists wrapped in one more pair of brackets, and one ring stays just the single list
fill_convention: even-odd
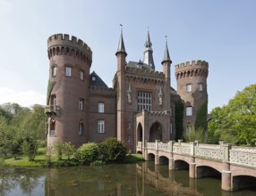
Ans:
[{"label": "smaller right round brick tower partly covered with ivy", "polygon": [[[207,77],[209,65],[207,61],[187,61],[175,65],[175,77],[177,81],[177,94],[184,103],[183,129],[190,130],[195,126],[198,112],[207,115]],[[202,112],[203,111],[203,112]],[[200,116],[200,115],[199,115]],[[205,117],[205,121],[206,121]],[[204,124],[206,122],[203,122]],[[206,127],[202,127],[206,128]]]}]

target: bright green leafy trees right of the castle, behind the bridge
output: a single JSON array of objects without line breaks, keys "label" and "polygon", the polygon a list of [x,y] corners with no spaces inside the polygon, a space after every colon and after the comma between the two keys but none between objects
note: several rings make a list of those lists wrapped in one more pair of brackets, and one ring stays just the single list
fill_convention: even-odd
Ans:
[{"label": "bright green leafy trees right of the castle, behind the bridge", "polygon": [[226,106],[211,111],[209,138],[228,143],[256,142],[256,85],[237,92]]}]

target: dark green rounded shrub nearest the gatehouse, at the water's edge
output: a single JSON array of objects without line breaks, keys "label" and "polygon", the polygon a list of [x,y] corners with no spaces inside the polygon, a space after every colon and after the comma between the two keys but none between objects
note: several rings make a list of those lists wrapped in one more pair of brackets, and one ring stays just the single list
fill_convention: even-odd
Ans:
[{"label": "dark green rounded shrub nearest the gatehouse, at the water's edge", "polygon": [[127,149],[124,142],[119,142],[114,137],[109,137],[98,145],[99,156],[106,162],[122,162]]}]

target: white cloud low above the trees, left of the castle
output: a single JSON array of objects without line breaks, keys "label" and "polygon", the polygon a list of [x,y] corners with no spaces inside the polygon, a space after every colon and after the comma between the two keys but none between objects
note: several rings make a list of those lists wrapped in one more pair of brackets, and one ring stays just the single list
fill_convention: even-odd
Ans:
[{"label": "white cloud low above the trees, left of the castle", "polygon": [[16,102],[23,107],[34,104],[46,104],[46,96],[35,91],[19,91],[8,87],[0,87],[0,104],[5,102]]}]

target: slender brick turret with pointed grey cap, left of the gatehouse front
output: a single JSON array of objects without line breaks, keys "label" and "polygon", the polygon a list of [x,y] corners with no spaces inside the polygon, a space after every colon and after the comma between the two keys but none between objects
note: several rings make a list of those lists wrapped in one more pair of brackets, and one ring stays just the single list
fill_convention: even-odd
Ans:
[{"label": "slender brick turret with pointed grey cap, left of the gatehouse front", "polygon": [[117,58],[117,122],[116,122],[116,136],[117,140],[124,141],[125,140],[125,77],[124,77],[124,71],[125,71],[125,58],[127,56],[127,53],[125,52],[124,47],[124,38],[123,38],[123,31],[121,29],[121,36],[117,48],[117,52],[115,53]]}]

